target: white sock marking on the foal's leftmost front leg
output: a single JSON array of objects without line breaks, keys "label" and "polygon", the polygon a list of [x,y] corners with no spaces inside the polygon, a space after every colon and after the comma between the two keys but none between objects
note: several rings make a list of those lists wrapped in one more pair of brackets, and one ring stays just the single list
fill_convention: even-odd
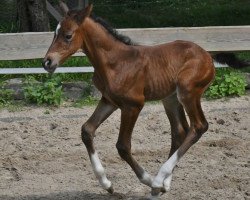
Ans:
[{"label": "white sock marking on the foal's leftmost front leg", "polygon": [[96,152],[90,155],[90,161],[91,161],[94,173],[97,179],[99,180],[100,184],[102,185],[102,187],[106,190],[109,189],[111,187],[111,182],[107,179],[105,170]]}]

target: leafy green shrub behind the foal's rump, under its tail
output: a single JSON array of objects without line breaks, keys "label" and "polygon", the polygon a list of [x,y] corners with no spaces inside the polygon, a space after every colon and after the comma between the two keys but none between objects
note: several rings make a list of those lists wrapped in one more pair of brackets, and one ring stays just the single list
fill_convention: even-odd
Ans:
[{"label": "leafy green shrub behind the foal's rump, under its tail", "polygon": [[218,69],[214,82],[205,92],[205,97],[216,99],[232,95],[241,96],[245,94],[246,85],[242,73],[232,69]]}]

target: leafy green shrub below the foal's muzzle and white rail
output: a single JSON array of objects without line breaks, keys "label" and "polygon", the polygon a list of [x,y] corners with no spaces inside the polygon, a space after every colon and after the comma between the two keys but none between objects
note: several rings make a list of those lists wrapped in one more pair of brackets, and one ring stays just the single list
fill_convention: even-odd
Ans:
[{"label": "leafy green shrub below the foal's muzzle and white rail", "polygon": [[62,103],[60,79],[48,78],[44,83],[39,83],[30,77],[24,87],[24,96],[32,103],[59,106]]}]

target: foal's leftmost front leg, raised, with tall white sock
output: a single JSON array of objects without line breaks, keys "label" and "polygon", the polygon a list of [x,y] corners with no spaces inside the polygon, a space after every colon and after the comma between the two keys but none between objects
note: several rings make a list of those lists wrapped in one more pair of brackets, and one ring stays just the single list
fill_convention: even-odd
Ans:
[{"label": "foal's leftmost front leg, raised, with tall white sock", "polygon": [[82,141],[85,144],[90,161],[96,177],[98,178],[102,187],[109,193],[113,193],[111,182],[107,179],[105,170],[101,164],[98,154],[94,148],[93,138],[95,130],[100,124],[106,120],[117,107],[109,103],[104,97],[100,100],[97,108],[95,109],[92,116],[82,126]]}]

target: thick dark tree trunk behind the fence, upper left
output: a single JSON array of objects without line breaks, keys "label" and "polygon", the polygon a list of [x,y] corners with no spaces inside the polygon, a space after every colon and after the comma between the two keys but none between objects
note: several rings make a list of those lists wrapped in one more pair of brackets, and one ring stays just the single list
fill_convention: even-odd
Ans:
[{"label": "thick dark tree trunk behind the fence, upper left", "polygon": [[49,31],[45,0],[17,0],[20,32]]}]

